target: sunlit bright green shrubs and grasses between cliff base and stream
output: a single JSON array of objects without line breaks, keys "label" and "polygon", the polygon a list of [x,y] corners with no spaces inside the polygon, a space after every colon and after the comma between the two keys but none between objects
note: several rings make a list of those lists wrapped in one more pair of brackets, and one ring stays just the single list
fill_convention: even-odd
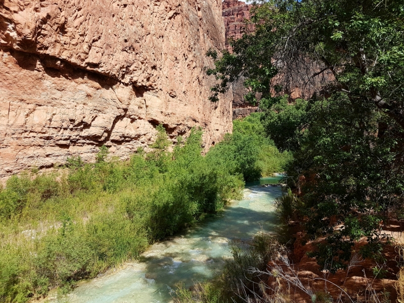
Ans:
[{"label": "sunlit bright green shrubs and grasses between cliff base and stream", "polygon": [[52,173],[7,181],[0,191],[0,301],[25,302],[55,287],[65,292],[136,259],[148,244],[239,198],[244,179],[284,170],[289,161],[262,137],[259,117],[236,121],[234,134],[205,157],[200,130],[171,146],[157,129],[151,151],[139,149],[128,161],[102,146],[94,164],[69,158]]}]

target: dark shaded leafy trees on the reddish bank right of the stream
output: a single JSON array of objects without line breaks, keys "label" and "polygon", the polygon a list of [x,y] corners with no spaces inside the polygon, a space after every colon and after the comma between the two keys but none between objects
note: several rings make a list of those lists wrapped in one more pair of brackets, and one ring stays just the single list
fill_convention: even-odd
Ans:
[{"label": "dark shaded leafy trees on the reddish bank right of the stream", "polygon": [[[376,261],[374,276],[383,277],[383,247],[391,240],[384,227],[404,219],[404,5],[259,3],[255,30],[231,41],[232,53],[208,53],[216,60],[208,72],[219,80],[211,99],[246,79],[245,98],[261,98],[266,133],[294,156],[294,194],[279,201],[280,216],[301,222],[305,241],[324,238],[310,254],[321,269],[346,269],[365,239],[359,253]],[[293,85],[306,100],[284,95]]]}]

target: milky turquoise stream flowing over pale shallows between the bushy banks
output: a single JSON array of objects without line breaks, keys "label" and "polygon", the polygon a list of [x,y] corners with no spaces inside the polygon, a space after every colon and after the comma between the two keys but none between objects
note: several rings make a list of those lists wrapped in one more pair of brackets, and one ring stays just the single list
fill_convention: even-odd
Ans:
[{"label": "milky turquoise stream flowing over pale shallows between the bushy banks", "polygon": [[186,232],[151,245],[139,262],[128,263],[100,276],[55,302],[71,303],[148,303],[171,302],[170,290],[178,282],[190,286],[220,273],[231,256],[231,245],[250,240],[252,235],[275,227],[273,201],[281,188],[281,176],[262,178],[246,184],[242,200],[234,201],[218,215]]}]

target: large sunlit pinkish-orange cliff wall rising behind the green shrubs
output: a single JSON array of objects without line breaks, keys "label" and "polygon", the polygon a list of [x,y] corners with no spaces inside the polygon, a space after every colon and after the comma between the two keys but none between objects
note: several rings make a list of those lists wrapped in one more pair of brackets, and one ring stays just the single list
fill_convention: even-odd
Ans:
[{"label": "large sunlit pinkish-orange cliff wall rising behind the green shrubs", "polygon": [[106,144],[232,129],[231,95],[208,99],[205,54],[223,49],[221,0],[0,0],[0,177]]}]

